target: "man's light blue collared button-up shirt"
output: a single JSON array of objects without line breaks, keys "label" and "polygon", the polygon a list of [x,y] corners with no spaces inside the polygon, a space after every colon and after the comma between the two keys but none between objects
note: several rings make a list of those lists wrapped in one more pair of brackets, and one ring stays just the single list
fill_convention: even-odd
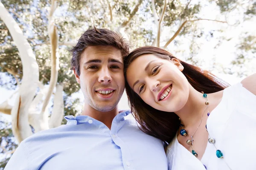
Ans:
[{"label": "man's light blue collared button-up shirt", "polygon": [[116,115],[111,130],[90,116],[66,116],[67,125],[21,142],[5,170],[167,170],[163,142],[128,114]]}]

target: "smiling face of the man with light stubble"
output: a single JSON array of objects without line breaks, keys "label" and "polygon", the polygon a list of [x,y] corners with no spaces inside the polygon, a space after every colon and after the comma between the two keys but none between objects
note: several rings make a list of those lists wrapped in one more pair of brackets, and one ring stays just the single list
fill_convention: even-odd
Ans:
[{"label": "smiling face of the man with light stubble", "polygon": [[112,46],[90,46],[81,54],[76,80],[84,99],[97,111],[113,110],[125,88],[121,52]]}]

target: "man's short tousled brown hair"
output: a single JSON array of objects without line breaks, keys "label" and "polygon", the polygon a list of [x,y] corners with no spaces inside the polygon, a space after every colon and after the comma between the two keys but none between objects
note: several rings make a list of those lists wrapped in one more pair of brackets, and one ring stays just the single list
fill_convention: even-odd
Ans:
[{"label": "man's short tousled brown hair", "polygon": [[88,29],[79,38],[76,46],[70,52],[72,53],[71,69],[76,70],[80,75],[80,58],[85,48],[89,46],[107,45],[120,50],[122,57],[129,54],[128,43],[116,32],[108,29]]}]

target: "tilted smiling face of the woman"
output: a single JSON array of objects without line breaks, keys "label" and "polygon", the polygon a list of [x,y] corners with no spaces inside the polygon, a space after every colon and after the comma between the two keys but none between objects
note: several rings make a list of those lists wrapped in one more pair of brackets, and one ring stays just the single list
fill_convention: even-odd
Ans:
[{"label": "tilted smiling face of the woman", "polygon": [[127,69],[127,82],[151,107],[166,112],[179,111],[189,97],[189,82],[181,72],[183,66],[172,58],[161,59],[145,54]]}]

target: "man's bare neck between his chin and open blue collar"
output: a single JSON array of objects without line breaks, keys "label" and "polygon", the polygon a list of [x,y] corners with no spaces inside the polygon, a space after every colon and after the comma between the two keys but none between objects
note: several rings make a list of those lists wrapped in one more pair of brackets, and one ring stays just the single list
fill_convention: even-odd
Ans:
[{"label": "man's bare neck between his chin and open blue collar", "polygon": [[112,121],[118,113],[119,112],[118,112],[117,107],[115,107],[111,111],[101,112],[101,111],[97,111],[96,109],[92,108],[90,105],[88,105],[86,103],[86,104],[84,104],[84,109],[83,109],[81,115],[90,116],[93,119],[96,119],[96,120],[104,123],[109,129],[111,129]]}]

